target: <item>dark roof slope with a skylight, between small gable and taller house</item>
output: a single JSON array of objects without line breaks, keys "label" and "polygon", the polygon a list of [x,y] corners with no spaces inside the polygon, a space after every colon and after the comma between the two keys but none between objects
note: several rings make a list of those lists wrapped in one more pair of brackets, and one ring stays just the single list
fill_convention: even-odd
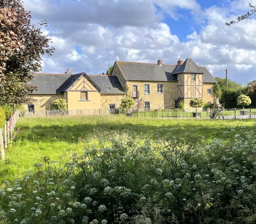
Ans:
[{"label": "dark roof slope with a skylight, between small gable and taller house", "polygon": [[[88,75],[101,89],[103,94],[125,94],[124,89],[115,75]],[[110,86],[112,90],[107,89]]]}]

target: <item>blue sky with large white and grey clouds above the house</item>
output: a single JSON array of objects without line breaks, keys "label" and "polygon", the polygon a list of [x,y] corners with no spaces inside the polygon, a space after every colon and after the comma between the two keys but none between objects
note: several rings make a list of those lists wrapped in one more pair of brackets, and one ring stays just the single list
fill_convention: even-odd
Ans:
[{"label": "blue sky with large white and grey clouds above the house", "polygon": [[[245,84],[256,79],[256,17],[226,21],[256,0],[25,0],[32,20],[48,21],[54,56],[42,72],[106,72],[115,60],[175,64],[192,57],[210,72],[228,68]],[[225,73],[215,73],[224,77]]]}]

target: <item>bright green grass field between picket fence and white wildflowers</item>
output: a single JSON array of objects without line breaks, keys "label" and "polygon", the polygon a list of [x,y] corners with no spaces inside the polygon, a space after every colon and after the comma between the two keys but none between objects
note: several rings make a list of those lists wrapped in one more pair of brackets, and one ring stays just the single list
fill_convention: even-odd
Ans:
[{"label": "bright green grass field between picket fence and white wildflowers", "polygon": [[[172,120],[172,119],[129,119],[118,117],[52,117],[20,119],[21,128],[17,139],[6,151],[6,162],[0,161],[0,183],[2,180],[20,176],[24,170],[30,170],[40,158],[67,161],[73,153],[82,154],[86,147],[97,145],[97,139],[114,137],[128,129],[134,135],[152,138],[161,125],[178,127],[205,141],[213,138],[226,139],[239,133],[240,127],[252,129],[256,120]],[[228,135],[224,131],[235,129]]]}]

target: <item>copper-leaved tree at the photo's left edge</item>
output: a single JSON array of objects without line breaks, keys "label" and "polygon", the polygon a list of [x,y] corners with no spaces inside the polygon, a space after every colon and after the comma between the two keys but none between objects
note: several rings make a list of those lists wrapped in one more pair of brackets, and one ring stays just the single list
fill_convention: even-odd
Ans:
[{"label": "copper-leaved tree at the photo's left edge", "polygon": [[41,56],[52,55],[50,38],[31,22],[20,0],[0,1],[0,105],[28,102],[36,87],[31,73],[41,69]]}]

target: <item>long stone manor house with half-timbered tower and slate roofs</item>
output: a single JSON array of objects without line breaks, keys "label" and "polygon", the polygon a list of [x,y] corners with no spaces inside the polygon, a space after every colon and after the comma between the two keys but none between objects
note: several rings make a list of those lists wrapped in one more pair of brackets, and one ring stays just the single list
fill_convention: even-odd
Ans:
[{"label": "long stone manor house with half-timbered tower and slate roofs", "polygon": [[140,109],[168,109],[182,101],[190,108],[190,99],[200,97],[205,103],[214,101],[216,80],[206,69],[191,59],[176,65],[115,61],[111,75],[35,73],[31,84],[38,91],[30,94],[33,104],[29,112],[50,110],[52,101],[66,99],[68,109],[115,109],[129,96]]}]

